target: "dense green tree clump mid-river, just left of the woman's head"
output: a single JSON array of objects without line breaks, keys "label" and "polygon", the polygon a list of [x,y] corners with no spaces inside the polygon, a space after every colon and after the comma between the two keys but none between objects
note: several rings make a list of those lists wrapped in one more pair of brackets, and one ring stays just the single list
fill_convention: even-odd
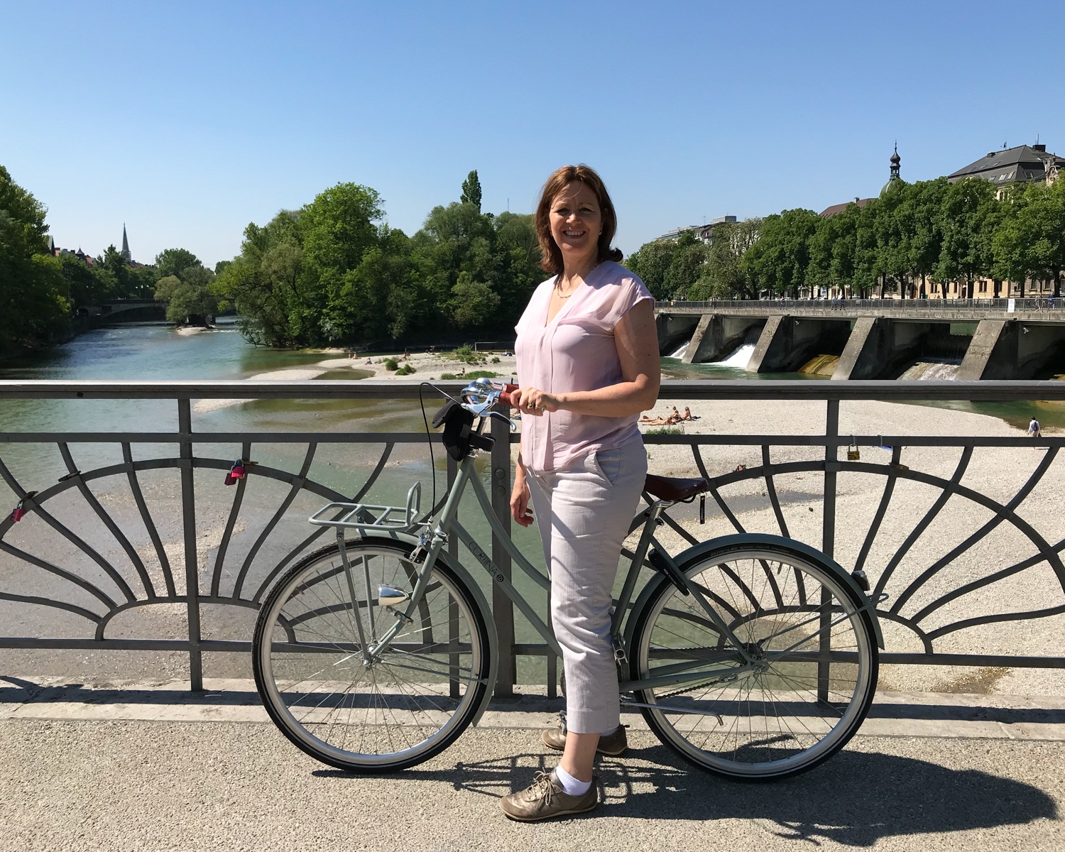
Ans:
[{"label": "dense green tree clump mid-river, just left of the woman's head", "polygon": [[376,191],[339,183],[299,210],[250,224],[214,293],[245,337],[273,346],[509,338],[544,273],[532,217],[482,213],[476,171],[458,201],[408,236]]}]

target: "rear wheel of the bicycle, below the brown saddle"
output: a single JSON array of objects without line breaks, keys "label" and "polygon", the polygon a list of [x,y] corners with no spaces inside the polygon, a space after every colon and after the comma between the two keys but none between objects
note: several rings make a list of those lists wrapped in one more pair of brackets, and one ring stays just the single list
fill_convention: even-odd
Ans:
[{"label": "rear wheel of the bicycle, below the brown saddle", "polygon": [[662,742],[746,781],[803,772],[842,748],[876,687],[861,596],[823,562],[775,543],[724,546],[679,568],[692,594],[663,576],[634,613],[632,677],[674,679],[636,693]]}]

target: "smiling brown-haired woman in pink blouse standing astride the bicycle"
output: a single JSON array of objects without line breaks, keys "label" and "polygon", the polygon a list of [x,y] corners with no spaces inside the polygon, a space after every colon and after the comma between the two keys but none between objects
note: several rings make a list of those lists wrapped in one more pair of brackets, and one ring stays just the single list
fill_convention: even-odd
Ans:
[{"label": "smiling brown-haired woman in pink blouse standing astride the bicycle", "polygon": [[584,165],[555,171],[536,230],[541,266],[554,275],[517,327],[513,405],[524,416],[510,510],[522,526],[535,517],[540,527],[568,730],[542,737],[562,751],[555,771],[502,799],[522,821],[591,810],[596,750],[625,750],[610,590],[648,470],[637,416],[654,406],[659,382],[654,300],[617,263],[617,215],[599,175]]}]

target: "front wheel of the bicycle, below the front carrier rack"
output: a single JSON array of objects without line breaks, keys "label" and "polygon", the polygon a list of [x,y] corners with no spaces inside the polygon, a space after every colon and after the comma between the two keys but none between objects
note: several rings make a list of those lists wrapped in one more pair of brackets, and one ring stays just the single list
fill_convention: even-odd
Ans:
[{"label": "front wheel of the bicycle, below the front carrier rack", "polygon": [[438,561],[410,622],[372,655],[407,609],[382,606],[379,586],[413,591],[412,547],[345,547],[347,569],[339,547],[326,547],[267,596],[252,643],[256,685],[281,732],[312,757],[358,772],[405,769],[446,749],[473,720],[489,688],[488,625]]}]

